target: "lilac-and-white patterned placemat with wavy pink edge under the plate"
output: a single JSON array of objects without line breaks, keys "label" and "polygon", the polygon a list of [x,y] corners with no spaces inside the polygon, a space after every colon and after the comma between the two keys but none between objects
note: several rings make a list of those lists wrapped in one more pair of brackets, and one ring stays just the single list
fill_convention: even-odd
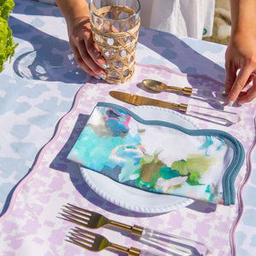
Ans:
[{"label": "lilac-and-white patterned placemat with wavy pink edge under the plate", "polygon": [[[105,84],[96,80],[84,84],[76,96],[73,109],[61,119],[54,139],[44,147],[31,174],[15,190],[11,207],[1,218],[0,247],[3,255],[35,255],[38,252],[40,255],[84,253],[83,249],[65,241],[67,231],[74,225],[57,218],[60,216],[61,206],[67,202],[102,212],[106,217],[126,224],[138,224],[202,241],[210,248],[212,255],[230,255],[231,248],[234,250],[233,246],[230,247],[230,230],[234,229],[233,225],[241,210],[237,200],[236,205],[231,207],[216,207],[198,201],[189,207],[163,214],[126,211],[96,195],[84,183],[79,166],[66,159],[69,149],[73,146],[96,102],[113,102],[129,108],[128,104],[113,100],[108,95],[109,90],[122,90],[170,102],[195,102],[197,105],[214,107],[214,105],[211,106],[210,101],[207,103],[172,93],[152,94],[142,90],[141,81],[148,78],[149,74],[152,79],[158,78],[161,81],[168,81],[169,84],[192,85],[199,91],[199,96],[207,96],[209,100],[219,95],[224,86],[205,77],[178,75],[166,68],[143,65],[137,65],[134,77],[125,84]],[[241,122],[231,127],[207,123],[201,119],[193,120],[201,128],[230,132],[241,141],[247,152],[254,136],[252,131],[254,131],[255,109],[252,107],[253,105],[247,104],[244,108],[230,108],[241,115]],[[246,165],[241,168],[236,178],[236,188],[241,186],[245,174]],[[148,248],[131,236],[128,237],[128,233],[125,232],[122,233],[125,236],[120,236],[118,232],[108,229],[99,229],[96,232],[108,236],[110,241],[118,241],[119,244]],[[95,253],[86,252],[86,255],[95,255]],[[103,251],[97,255],[115,255],[115,253]]]}]

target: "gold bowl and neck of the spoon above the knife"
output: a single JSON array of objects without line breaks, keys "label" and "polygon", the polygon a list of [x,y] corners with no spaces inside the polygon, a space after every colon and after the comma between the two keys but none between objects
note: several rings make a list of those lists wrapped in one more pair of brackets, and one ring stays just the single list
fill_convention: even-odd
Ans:
[{"label": "gold bowl and neck of the spoon above the knife", "polygon": [[160,81],[156,81],[153,79],[144,79],[143,84],[148,89],[158,91],[158,92],[165,91],[165,90],[173,90],[173,91],[182,92],[184,95],[188,95],[188,96],[192,95],[192,88],[189,88],[189,87],[180,88],[176,86],[169,86],[169,85],[166,85],[165,83],[162,83]]}]

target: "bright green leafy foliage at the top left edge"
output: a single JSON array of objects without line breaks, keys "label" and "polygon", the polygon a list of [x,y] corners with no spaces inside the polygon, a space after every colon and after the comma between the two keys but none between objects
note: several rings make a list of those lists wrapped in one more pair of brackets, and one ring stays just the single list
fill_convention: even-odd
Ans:
[{"label": "bright green leafy foliage at the top left edge", "polygon": [[0,73],[3,71],[3,63],[15,54],[13,33],[8,25],[9,13],[15,6],[14,0],[0,0]]}]

